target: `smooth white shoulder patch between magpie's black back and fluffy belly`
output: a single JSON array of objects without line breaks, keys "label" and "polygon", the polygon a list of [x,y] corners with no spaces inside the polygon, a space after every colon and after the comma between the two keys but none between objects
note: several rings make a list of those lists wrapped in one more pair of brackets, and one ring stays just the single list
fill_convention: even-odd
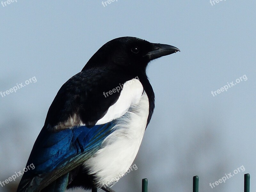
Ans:
[{"label": "smooth white shoulder patch between magpie's black back and fluffy belly", "polygon": [[96,125],[105,124],[123,116],[131,105],[140,101],[142,93],[143,86],[138,79],[131,79],[125,82],[116,103],[108,108],[108,112],[97,121]]}]

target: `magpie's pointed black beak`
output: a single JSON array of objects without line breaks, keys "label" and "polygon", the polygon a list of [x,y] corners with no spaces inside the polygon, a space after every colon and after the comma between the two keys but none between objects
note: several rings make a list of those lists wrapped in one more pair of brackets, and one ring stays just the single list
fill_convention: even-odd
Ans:
[{"label": "magpie's pointed black beak", "polygon": [[147,56],[150,60],[157,59],[159,57],[163,57],[165,55],[170,55],[172,53],[176,53],[177,51],[180,51],[177,47],[174,47],[172,45],[167,44],[158,44],[158,43],[152,43],[153,44],[153,51],[148,52]]}]

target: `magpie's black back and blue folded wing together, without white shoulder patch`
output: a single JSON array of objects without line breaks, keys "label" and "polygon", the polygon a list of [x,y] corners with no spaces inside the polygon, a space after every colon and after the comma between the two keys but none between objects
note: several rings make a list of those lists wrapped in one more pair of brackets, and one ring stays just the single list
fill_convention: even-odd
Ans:
[{"label": "magpie's black back and blue folded wing together, without white shoulder patch", "polygon": [[[120,92],[108,98],[102,93],[124,83],[126,78],[113,76],[108,68],[93,68],[81,71],[61,86],[28,159],[27,166],[33,164],[35,169],[24,173],[17,192],[65,191],[67,174],[99,150],[102,141],[112,132],[113,122],[95,124],[118,100]],[[86,126],[71,128],[72,124],[68,129],[54,130],[75,114]],[[51,129],[47,129],[48,126]],[[44,189],[48,185],[60,187]]]}]

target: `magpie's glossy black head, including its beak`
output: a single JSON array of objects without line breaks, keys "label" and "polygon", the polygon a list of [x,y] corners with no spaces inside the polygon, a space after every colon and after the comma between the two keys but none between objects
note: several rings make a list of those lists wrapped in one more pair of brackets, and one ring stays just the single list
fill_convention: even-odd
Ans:
[{"label": "magpie's glossy black head, including its beak", "polygon": [[149,61],[177,51],[180,50],[167,44],[150,43],[136,37],[119,37],[104,44],[83,70],[104,66],[145,71]]}]

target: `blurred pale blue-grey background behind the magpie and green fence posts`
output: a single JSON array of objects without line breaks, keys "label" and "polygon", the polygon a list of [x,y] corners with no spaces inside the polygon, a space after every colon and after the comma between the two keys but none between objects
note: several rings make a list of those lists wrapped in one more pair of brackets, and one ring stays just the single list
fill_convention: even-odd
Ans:
[{"label": "blurred pale blue-grey background behind the magpie and green fence posts", "polygon": [[[26,86],[0,95],[0,181],[25,167],[61,85],[109,40],[136,36],[181,52],[148,66],[156,108],[133,163],[138,169],[113,189],[139,192],[148,178],[149,191],[192,191],[198,175],[199,191],[238,192],[250,173],[255,191],[255,1],[9,3],[0,4],[0,91]],[[210,187],[241,166],[244,172]],[[16,191],[20,179],[0,192]]]}]

